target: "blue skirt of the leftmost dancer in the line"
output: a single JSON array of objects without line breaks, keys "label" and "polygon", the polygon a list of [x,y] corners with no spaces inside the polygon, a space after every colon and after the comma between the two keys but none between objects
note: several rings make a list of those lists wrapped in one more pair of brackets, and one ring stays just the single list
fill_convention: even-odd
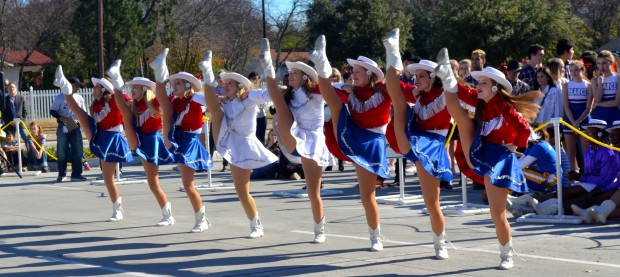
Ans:
[{"label": "blue skirt of the leftmost dancer in the line", "polygon": [[131,149],[122,132],[109,132],[97,128],[95,119],[88,117],[91,140],[90,151],[95,156],[110,163],[133,161]]}]

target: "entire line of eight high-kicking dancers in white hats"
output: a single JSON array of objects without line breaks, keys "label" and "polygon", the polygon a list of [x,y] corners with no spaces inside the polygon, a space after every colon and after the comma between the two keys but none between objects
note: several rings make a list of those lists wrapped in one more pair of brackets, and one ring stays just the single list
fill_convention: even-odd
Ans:
[{"label": "entire line of eight high-kicking dancers in white hats", "polygon": [[[92,116],[70,96],[71,85],[61,66],[54,84],[61,88],[69,107],[78,116],[93,153],[102,159],[104,182],[113,202],[111,221],[123,219],[124,212],[114,183],[116,163],[130,161],[133,150],[142,159],[149,188],[162,210],[163,218],[157,225],[175,223],[171,204],[159,186],[158,166],[176,162],[195,213],[191,232],[200,233],[209,228],[205,206],[194,187],[195,171],[212,167],[209,152],[199,140],[202,114],[208,109],[215,147],[230,162],[235,190],[250,222],[248,237],[264,236],[257,204],[250,194],[250,173],[278,159],[254,135],[258,105],[272,101],[278,111],[278,124],[274,128],[282,151],[300,160],[306,175],[313,242],[326,241],[321,185],[323,167],[333,163],[331,152],[336,158],[353,163],[370,234],[370,250],[383,250],[375,181],[390,177],[385,141],[386,137],[392,137],[393,148],[417,168],[430,215],[435,257],[440,260],[449,258],[439,197],[440,181],[453,178],[444,144],[450,120],[454,118],[467,165],[484,176],[500,244],[499,268],[512,268],[514,250],[505,204],[511,191],[527,191],[514,151],[527,146],[528,122],[539,109],[533,99],[541,94],[512,96],[512,86],[504,74],[492,67],[471,72],[479,82],[476,89],[462,86],[452,72],[445,48],[437,55],[437,62],[421,60],[404,68],[398,29],[387,34],[383,45],[386,74],[367,57],[347,59],[353,68],[353,84],[348,87],[332,85],[330,81],[332,67],[323,35],[316,39],[309,55],[314,68],[303,62],[286,62],[292,87],[287,91],[276,83],[267,39],[260,41],[258,56],[266,90],[253,87],[248,78],[238,73],[224,72],[219,75],[224,94],[216,95],[211,51],[198,64],[202,82],[187,72],[169,76],[167,48],[150,63],[156,82],[135,77],[125,84],[120,60],[108,69],[110,78],[92,78],[95,84]],[[416,76],[415,85],[400,81],[404,70]],[[171,84],[171,96],[167,95],[166,82]],[[130,87],[131,97],[123,94],[125,86]],[[326,128],[323,126],[325,103],[333,115]],[[394,128],[388,127],[392,110]],[[127,138],[123,137],[123,131]]]}]

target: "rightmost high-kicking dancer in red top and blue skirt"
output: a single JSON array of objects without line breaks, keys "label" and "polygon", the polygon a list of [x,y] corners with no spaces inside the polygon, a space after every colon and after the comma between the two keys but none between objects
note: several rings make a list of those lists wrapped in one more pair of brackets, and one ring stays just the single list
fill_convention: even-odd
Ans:
[{"label": "rightmost high-kicking dancer in red top and blue skirt", "polygon": [[[530,136],[528,121],[536,117],[539,106],[532,100],[539,92],[513,96],[512,85],[504,74],[492,67],[473,71],[477,90],[457,83],[450,66],[448,50],[437,56],[435,74],[441,78],[448,111],[459,126],[467,164],[484,177],[491,218],[500,243],[500,269],[514,266],[510,224],[506,219],[506,200],[510,191],[526,192],[525,176],[514,151],[526,147]],[[458,96],[457,93],[458,92]],[[461,101],[475,106],[473,119]]]}]

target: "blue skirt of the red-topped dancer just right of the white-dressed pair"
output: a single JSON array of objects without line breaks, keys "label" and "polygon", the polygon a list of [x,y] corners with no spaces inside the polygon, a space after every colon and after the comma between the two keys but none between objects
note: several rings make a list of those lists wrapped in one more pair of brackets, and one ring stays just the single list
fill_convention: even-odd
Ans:
[{"label": "blue skirt of the red-topped dancer just right of the white-dressed pair", "polygon": [[375,133],[357,127],[349,107],[342,105],[338,120],[337,139],[342,153],[364,169],[390,178],[387,164],[385,134]]}]

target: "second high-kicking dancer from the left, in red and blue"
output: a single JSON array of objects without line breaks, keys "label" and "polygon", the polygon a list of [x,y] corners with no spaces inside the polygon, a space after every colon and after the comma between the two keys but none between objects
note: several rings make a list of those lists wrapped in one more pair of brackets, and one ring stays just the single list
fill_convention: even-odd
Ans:
[{"label": "second high-kicking dancer from the left, in red and blue", "polygon": [[159,165],[174,162],[174,157],[161,135],[162,112],[159,101],[155,98],[155,82],[143,77],[134,77],[125,84],[121,77],[120,66],[121,60],[115,61],[107,73],[112,78],[114,98],[118,103],[124,101],[123,87],[127,85],[130,89],[132,100],[129,105],[118,105],[123,114],[125,136],[129,147],[142,158],[147,183],[162,211],[163,217],[157,226],[169,226],[174,224],[175,220],[172,216],[172,205],[159,186]]}]

